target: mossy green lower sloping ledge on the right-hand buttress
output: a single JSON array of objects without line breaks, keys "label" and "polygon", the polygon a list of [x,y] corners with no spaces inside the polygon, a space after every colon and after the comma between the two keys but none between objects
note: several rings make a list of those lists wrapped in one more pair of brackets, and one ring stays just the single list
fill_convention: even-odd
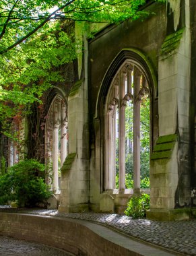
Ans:
[{"label": "mossy green lower sloping ledge on the right-hand buttress", "polygon": [[156,146],[154,147],[151,156],[151,160],[170,158],[177,137],[178,136],[176,134],[158,137],[158,140],[156,141]]}]

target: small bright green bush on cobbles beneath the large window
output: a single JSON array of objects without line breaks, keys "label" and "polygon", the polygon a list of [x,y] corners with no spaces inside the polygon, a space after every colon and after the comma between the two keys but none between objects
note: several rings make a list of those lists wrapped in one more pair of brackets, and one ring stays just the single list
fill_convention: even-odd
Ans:
[{"label": "small bright green bush on cobbles beneath the large window", "polygon": [[144,218],[146,211],[150,208],[150,195],[133,195],[127,203],[125,214],[132,218]]}]

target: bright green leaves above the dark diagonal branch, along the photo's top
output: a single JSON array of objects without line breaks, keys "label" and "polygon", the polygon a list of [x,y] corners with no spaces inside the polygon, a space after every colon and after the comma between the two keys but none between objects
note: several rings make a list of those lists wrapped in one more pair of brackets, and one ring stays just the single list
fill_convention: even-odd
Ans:
[{"label": "bright green leaves above the dark diagonal branch, along the photo's top", "polygon": [[5,0],[0,2],[0,54],[13,49],[51,20],[119,22],[136,18],[145,0]]}]

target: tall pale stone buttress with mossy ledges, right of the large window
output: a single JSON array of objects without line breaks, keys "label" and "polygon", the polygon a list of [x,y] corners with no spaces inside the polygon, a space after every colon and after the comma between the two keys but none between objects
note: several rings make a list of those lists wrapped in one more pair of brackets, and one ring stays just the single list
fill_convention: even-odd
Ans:
[{"label": "tall pale stone buttress with mossy ledges, right of the large window", "polygon": [[185,1],[185,17],[185,28],[166,38],[158,63],[160,137],[150,166],[148,218],[159,220],[189,218],[189,1]]}]

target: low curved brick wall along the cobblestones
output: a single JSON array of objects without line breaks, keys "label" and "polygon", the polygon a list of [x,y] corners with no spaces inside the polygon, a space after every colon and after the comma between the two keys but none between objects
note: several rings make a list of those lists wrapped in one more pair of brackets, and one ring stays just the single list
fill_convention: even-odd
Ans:
[{"label": "low curved brick wall along the cobblestones", "polygon": [[[93,226],[96,226],[98,232],[96,228],[92,230]],[[103,226],[79,220],[0,213],[0,235],[50,245],[79,256],[141,255],[104,238],[100,234],[101,230],[106,233],[104,229],[108,230]],[[110,232],[108,236],[111,236]]]}]

